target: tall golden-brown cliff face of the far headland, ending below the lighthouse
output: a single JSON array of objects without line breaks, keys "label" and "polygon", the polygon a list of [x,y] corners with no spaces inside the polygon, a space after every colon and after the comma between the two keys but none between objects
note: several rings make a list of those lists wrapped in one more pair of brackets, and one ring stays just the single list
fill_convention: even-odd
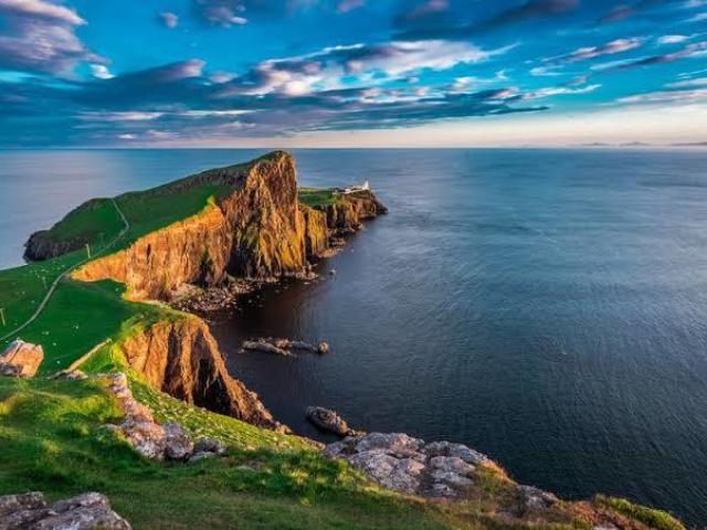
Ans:
[{"label": "tall golden-brown cliff face of the far headland, ending below the lighthouse", "polygon": [[341,195],[336,205],[299,204],[292,156],[276,151],[253,162],[211,171],[145,193],[177,193],[205,183],[232,191],[188,219],[147,234],[128,248],[95,259],[73,277],[114,279],[131,299],[169,300],[183,284],[211,287],[226,275],[271,278],[304,274],[333,235],[386,212],[370,191]]}]

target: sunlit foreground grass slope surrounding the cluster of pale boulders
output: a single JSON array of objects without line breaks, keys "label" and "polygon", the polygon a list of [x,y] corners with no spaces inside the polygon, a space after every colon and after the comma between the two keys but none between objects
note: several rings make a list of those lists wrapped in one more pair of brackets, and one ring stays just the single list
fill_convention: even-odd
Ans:
[{"label": "sunlit foreground grass slope surrounding the cluster of pale boulders", "polygon": [[[182,417],[176,400],[148,400],[160,402],[165,418]],[[236,420],[197,409],[191,415],[183,421],[190,428],[226,441],[226,458],[139,457],[103,427],[119,413],[96,381],[2,379],[0,495],[41,490],[56,499],[98,490],[135,529],[477,528],[444,507],[382,491],[296,438],[268,433],[272,439],[257,442],[255,427]]]}]

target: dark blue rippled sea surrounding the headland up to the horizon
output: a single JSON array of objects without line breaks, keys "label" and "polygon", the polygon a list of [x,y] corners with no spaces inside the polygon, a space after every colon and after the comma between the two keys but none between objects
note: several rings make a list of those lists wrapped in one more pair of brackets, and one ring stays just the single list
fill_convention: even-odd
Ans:
[{"label": "dark blue rippled sea surrounding the headland up to the horizon", "polygon": [[[84,199],[262,151],[0,152],[0,265]],[[390,214],[321,282],[213,325],[276,417],[468,444],[566,497],[707,522],[707,152],[300,150],[300,183],[370,180]],[[328,274],[336,269],[336,275]],[[328,356],[240,353],[326,339]]]}]

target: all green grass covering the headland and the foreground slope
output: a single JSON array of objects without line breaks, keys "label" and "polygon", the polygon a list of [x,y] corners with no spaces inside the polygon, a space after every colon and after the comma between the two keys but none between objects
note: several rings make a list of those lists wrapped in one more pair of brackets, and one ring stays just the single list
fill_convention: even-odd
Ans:
[{"label": "all green grass covering the headland and the foreground slope", "polygon": [[[300,438],[189,406],[146,384],[126,365],[116,343],[154,322],[191,317],[160,304],[128,301],[122,284],[82,283],[67,273],[88,259],[83,244],[91,246],[91,259],[116,253],[231,191],[229,183],[193,179],[199,176],[89,201],[43,234],[57,243],[78,241],[82,247],[0,272],[7,320],[0,322],[0,337],[9,333],[0,350],[21,337],[41,343],[45,353],[34,379],[0,378],[0,495],[41,490],[59,499],[101,491],[136,529],[591,528],[574,516],[542,527],[499,523],[499,499],[508,492],[503,476],[488,475],[475,497],[458,504],[393,494],[348,464],[321,457]],[[308,206],[339,200],[330,190],[299,190],[299,201]],[[10,333],[30,319],[54,285],[38,318]],[[93,374],[125,371],[135,396],[158,421],[178,421],[194,435],[222,439],[228,456],[190,464],[141,458],[105,428],[118,421],[120,411],[101,379],[50,379],[80,360],[81,369]],[[643,521],[631,528],[684,528],[664,512],[627,501],[594,502]]]}]

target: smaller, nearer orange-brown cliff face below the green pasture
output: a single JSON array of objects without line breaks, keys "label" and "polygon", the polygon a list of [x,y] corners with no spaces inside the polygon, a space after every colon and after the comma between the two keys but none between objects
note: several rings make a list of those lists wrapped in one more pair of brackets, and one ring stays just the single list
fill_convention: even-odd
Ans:
[{"label": "smaller, nearer orange-brown cliff face below the green pasture", "polygon": [[197,317],[159,321],[117,346],[154,388],[262,427],[287,431],[257,398],[228,373],[208,326]]}]

